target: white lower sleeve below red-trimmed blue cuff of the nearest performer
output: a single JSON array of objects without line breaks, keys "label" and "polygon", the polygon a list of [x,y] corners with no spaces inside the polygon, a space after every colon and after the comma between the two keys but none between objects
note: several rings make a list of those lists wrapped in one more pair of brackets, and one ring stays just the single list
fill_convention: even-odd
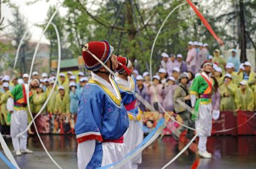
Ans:
[{"label": "white lower sleeve below red-trimmed blue cuff of the nearest performer", "polygon": [[95,139],[88,140],[78,144],[77,148],[77,165],[79,169],[86,169],[94,154],[96,141]]}]

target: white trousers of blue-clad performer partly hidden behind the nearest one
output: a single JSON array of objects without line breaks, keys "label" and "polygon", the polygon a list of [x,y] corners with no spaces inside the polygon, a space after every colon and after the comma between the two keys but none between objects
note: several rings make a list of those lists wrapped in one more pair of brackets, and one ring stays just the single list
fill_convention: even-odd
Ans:
[{"label": "white trousers of blue-clad performer partly hidden behind the nearest one", "polygon": [[[129,128],[124,135],[124,144],[127,146],[128,152],[131,152],[143,140],[142,122],[130,120]],[[141,153],[131,160],[133,169],[137,168],[137,164],[141,164]]]}]

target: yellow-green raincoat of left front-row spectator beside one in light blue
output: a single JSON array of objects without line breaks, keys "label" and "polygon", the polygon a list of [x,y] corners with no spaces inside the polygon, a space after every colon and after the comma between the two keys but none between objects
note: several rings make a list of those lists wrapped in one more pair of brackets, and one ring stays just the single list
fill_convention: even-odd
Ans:
[{"label": "yellow-green raincoat of left front-row spectator beside one in light blue", "polygon": [[70,98],[69,94],[65,93],[63,99],[61,99],[61,95],[58,93],[56,96],[55,102],[55,113],[70,113]]}]

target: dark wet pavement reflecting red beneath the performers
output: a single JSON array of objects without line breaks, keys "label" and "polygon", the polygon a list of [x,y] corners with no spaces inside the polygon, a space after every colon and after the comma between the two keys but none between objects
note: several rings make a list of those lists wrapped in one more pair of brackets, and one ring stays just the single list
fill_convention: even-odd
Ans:
[{"label": "dark wet pavement reflecting red beneath the performers", "polygon": [[[41,135],[41,137],[46,149],[62,168],[77,168],[75,136]],[[13,150],[11,139],[5,141],[10,150]],[[20,168],[57,168],[46,155],[35,135],[28,138],[28,148],[34,153],[14,156]],[[208,139],[207,148],[213,154],[212,159],[200,159],[197,154],[187,151],[168,168],[191,168],[198,159],[200,159],[199,168],[256,168],[256,135],[213,136]],[[143,151],[139,168],[162,168],[179,153],[179,149],[181,144],[179,145],[172,137],[158,138]],[[2,160],[0,160],[0,168],[7,168]]]}]

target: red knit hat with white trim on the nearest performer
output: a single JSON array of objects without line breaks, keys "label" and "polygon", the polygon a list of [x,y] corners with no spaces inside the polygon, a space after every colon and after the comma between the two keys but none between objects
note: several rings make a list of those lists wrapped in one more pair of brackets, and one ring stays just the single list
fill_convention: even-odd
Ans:
[{"label": "red knit hat with white trim on the nearest performer", "polygon": [[97,71],[102,66],[98,60],[96,60],[90,53],[94,54],[104,64],[112,56],[114,48],[110,44],[104,41],[94,41],[85,44],[82,50],[84,62],[86,63],[86,69]]}]

